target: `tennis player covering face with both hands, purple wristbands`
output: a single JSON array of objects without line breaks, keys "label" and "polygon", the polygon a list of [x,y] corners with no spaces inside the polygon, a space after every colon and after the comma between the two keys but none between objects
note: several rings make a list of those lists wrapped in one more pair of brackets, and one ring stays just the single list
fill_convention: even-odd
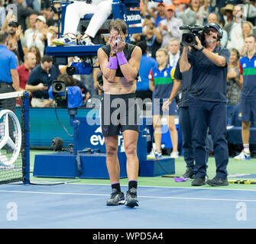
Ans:
[{"label": "tennis player covering face with both hands, purple wristbands", "polygon": [[[128,207],[134,207],[138,206],[137,140],[140,114],[135,91],[141,62],[141,48],[125,43],[125,37],[127,37],[125,21],[119,19],[112,21],[109,30],[110,44],[98,50],[104,91],[101,104],[102,135],[105,139],[106,164],[112,184],[112,194],[107,205],[125,204]],[[127,157],[126,199],[119,182],[118,134],[120,130]]]}]

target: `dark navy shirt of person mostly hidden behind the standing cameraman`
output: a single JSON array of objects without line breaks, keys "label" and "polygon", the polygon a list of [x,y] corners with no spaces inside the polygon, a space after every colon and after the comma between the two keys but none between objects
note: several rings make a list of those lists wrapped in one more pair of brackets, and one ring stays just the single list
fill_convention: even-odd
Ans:
[{"label": "dark navy shirt of person mostly hidden behind the standing cameraman", "polygon": [[180,72],[180,59],[177,62],[177,66],[174,72],[174,79],[181,79],[181,99],[179,107],[189,107],[189,95],[190,95],[190,85],[192,79],[193,68],[189,69],[187,72]]}]

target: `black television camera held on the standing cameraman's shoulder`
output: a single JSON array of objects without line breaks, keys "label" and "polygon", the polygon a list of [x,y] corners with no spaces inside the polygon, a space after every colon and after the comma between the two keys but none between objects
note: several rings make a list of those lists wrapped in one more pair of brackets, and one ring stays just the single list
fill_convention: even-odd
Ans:
[{"label": "black television camera held on the standing cameraman's shoulder", "polygon": [[203,30],[204,27],[200,25],[195,25],[191,27],[189,25],[183,25],[180,27],[180,30],[188,30],[187,33],[183,33],[181,45],[193,47],[196,45],[196,36],[199,37],[202,43]]}]

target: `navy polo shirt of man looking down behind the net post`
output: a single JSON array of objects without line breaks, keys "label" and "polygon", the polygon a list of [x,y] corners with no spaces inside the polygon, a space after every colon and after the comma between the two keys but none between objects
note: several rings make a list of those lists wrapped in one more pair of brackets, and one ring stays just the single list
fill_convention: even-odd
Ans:
[{"label": "navy polo shirt of man looking down behind the net post", "polygon": [[[47,74],[47,72],[44,72],[44,70],[41,68],[41,64],[39,64],[31,71],[27,84],[38,85],[43,83],[49,89],[51,83],[57,79],[58,75],[60,75],[60,71],[55,66],[52,66],[49,73]],[[48,99],[48,89],[44,91],[34,91],[32,97]]]}]

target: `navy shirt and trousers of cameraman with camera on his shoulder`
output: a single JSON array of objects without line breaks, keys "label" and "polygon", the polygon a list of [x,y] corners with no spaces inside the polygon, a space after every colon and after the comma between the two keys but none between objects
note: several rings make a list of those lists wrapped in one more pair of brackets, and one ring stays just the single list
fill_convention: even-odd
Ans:
[{"label": "navy shirt and trousers of cameraman with camera on his shoulder", "polygon": [[226,65],[216,66],[203,52],[191,50],[188,54],[193,68],[189,95],[189,111],[193,154],[196,161],[196,178],[206,177],[206,135],[212,135],[216,175],[226,179],[228,176],[228,143],[226,136],[226,77],[230,52],[216,47],[213,53],[224,56]]}]

